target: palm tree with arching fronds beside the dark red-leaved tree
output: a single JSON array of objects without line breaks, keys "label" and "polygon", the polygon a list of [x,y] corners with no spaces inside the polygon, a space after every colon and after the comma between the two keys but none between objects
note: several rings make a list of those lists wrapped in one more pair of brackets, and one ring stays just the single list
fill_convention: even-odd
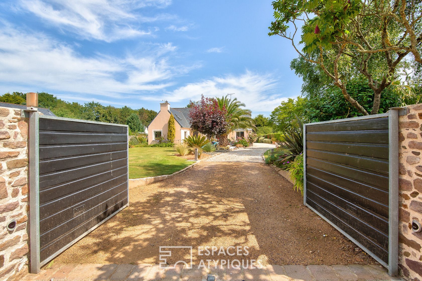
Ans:
[{"label": "palm tree with arching fronds beside the dark red-leaved tree", "polygon": [[252,111],[245,107],[243,102],[238,101],[237,98],[230,99],[226,96],[216,98],[220,109],[225,108],[227,110],[228,126],[225,134],[219,136],[220,145],[226,146],[227,135],[236,129],[246,129],[254,127],[254,121],[251,117]]}]

